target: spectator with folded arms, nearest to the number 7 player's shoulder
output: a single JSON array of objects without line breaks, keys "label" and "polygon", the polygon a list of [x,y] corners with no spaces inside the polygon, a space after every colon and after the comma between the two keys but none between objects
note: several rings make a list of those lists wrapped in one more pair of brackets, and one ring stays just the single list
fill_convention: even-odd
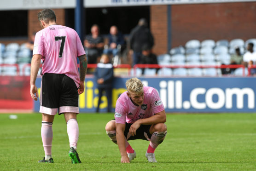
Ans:
[{"label": "spectator with folded arms, nearest to the number 7 player's shoulder", "polygon": [[92,26],[91,33],[86,36],[84,46],[87,51],[88,63],[97,63],[97,58],[101,56],[103,51],[104,40],[99,35],[99,26],[97,24]]}]

